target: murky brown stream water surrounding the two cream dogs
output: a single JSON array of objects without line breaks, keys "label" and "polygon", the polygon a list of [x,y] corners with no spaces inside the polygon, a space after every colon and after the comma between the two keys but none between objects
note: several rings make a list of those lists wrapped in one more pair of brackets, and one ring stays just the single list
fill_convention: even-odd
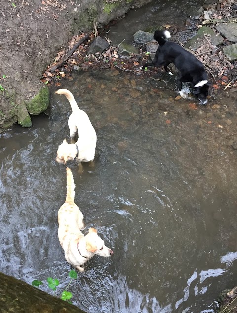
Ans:
[{"label": "murky brown stream water surrounding the two cream dogs", "polygon": [[[94,167],[79,174],[68,162],[84,232],[95,227],[114,250],[70,285],[86,312],[214,312],[218,293],[237,282],[236,92],[200,107],[175,101],[171,79],[103,69],[60,86],[98,136]],[[57,237],[66,171],[55,161],[71,108],[55,90],[49,118],[0,137],[0,270],[40,279],[46,291],[49,276],[63,290],[72,269]]]}]

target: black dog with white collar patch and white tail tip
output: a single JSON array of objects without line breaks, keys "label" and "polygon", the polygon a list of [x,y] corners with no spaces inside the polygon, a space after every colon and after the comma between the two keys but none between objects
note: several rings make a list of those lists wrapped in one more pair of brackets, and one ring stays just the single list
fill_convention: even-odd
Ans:
[{"label": "black dog with white collar patch and white tail tip", "polygon": [[169,31],[155,31],[154,39],[158,41],[159,47],[156,51],[155,58],[152,63],[143,65],[143,69],[148,66],[161,67],[164,66],[167,72],[167,66],[174,63],[180,71],[179,90],[182,89],[182,82],[192,83],[194,94],[198,97],[202,105],[207,103],[208,78],[203,64],[197,58],[185,50],[181,45],[167,41],[165,38],[170,38]]}]

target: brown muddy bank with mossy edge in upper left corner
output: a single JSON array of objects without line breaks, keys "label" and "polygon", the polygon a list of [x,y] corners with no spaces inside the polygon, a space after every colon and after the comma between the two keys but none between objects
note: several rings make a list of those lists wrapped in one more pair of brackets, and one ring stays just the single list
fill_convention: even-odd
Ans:
[{"label": "brown muddy bank with mossy edge in upper left corner", "polygon": [[17,121],[30,126],[28,112],[39,114],[47,108],[49,90],[40,81],[42,72],[72,35],[92,30],[94,19],[102,27],[149,2],[0,0],[0,132]]}]

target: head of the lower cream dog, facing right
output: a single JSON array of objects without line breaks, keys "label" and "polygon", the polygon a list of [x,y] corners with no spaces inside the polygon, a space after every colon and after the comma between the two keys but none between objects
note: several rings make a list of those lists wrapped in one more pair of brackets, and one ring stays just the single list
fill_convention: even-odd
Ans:
[{"label": "head of the lower cream dog, facing right", "polygon": [[104,240],[98,236],[96,229],[90,228],[85,240],[87,251],[102,257],[109,257],[113,254],[113,251],[105,246]]}]

